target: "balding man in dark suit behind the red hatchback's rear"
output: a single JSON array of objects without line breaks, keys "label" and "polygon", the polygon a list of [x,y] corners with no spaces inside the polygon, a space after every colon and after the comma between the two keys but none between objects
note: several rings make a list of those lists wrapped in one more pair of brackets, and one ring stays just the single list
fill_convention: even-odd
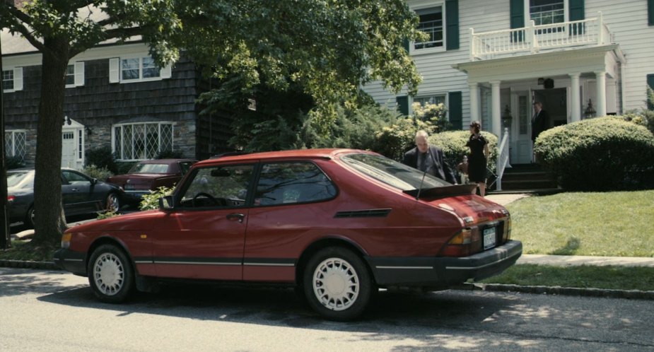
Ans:
[{"label": "balding man in dark suit behind the red hatchback's rear", "polygon": [[452,172],[450,165],[445,162],[443,149],[437,146],[430,146],[427,137],[427,131],[416,132],[416,148],[404,154],[402,163],[411,166],[411,168],[416,168],[436,176],[440,180],[457,184],[454,172]]}]

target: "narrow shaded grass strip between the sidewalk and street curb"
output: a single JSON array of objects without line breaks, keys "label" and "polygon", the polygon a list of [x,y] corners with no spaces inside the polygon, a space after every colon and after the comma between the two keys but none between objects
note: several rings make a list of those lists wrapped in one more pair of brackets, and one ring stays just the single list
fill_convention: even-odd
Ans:
[{"label": "narrow shaded grass strip between the sidewalk and street curb", "polygon": [[654,291],[654,268],[522,264],[481,283]]}]

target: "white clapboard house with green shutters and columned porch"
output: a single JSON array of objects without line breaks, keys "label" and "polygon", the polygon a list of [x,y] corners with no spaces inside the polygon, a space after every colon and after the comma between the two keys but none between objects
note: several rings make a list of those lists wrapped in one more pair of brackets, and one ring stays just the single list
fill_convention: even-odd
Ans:
[{"label": "white clapboard house with green shutters and columned porch", "polygon": [[445,102],[456,128],[479,120],[498,136],[508,107],[511,163],[530,162],[533,102],[554,127],[644,107],[654,86],[654,0],[407,2],[430,38],[409,43],[418,95],[366,91],[405,114],[412,102]]}]

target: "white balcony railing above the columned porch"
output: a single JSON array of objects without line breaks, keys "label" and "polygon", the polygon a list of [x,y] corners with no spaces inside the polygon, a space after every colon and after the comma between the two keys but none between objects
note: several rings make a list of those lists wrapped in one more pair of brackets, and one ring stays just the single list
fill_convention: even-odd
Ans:
[{"label": "white balcony railing above the columned porch", "polygon": [[612,41],[601,12],[587,20],[550,25],[535,25],[531,20],[529,27],[494,32],[474,33],[470,28],[470,61],[533,54],[544,49],[605,45]]}]

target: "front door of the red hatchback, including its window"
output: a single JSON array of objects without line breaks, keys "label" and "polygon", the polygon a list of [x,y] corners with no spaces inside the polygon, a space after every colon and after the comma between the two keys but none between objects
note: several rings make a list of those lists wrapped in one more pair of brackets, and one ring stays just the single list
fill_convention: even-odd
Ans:
[{"label": "front door of the red hatchback, including its window", "polygon": [[241,280],[255,164],[198,168],[153,238],[158,276]]}]

